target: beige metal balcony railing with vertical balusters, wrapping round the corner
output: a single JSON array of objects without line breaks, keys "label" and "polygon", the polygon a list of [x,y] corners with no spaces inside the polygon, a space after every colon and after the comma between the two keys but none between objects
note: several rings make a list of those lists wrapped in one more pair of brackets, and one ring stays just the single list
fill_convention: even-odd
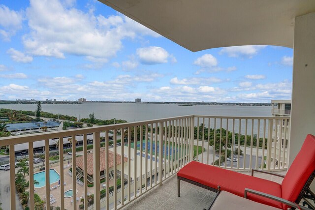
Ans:
[{"label": "beige metal balcony railing with vertical balusters, wrapping round the corner", "polygon": [[[106,126],[95,126],[81,129],[44,132],[0,138],[0,146],[9,146],[14,151],[15,145],[28,143],[29,145],[29,180],[33,183],[33,145],[37,141],[44,141],[45,145],[45,194],[46,209],[59,206],[61,209],[78,209],[80,205],[72,198],[73,204],[65,203],[63,192],[65,186],[51,191],[49,169],[53,165],[49,162],[49,140],[58,138],[63,142],[63,137],[83,135],[83,186],[77,185],[76,175],[71,177],[73,192],[82,191],[79,196],[84,199],[84,209],[106,207],[106,209],[121,209],[134,199],[146,192],[162,185],[164,180],[175,175],[190,161],[196,160],[218,167],[236,170],[281,170],[286,169],[286,164],[275,164],[271,160],[280,160],[285,163],[287,159],[286,145],[281,145],[279,139],[287,139],[283,132],[273,130],[274,125],[290,120],[289,117],[226,117],[226,116],[197,116],[189,115],[158,120],[146,120]],[[277,126],[276,126],[277,129]],[[282,129],[282,127],[280,127]],[[105,132],[105,143],[100,143],[100,132]],[[87,134],[93,133],[93,153],[88,154]],[[109,140],[109,134],[113,139]],[[281,136],[279,136],[281,135]],[[284,137],[283,137],[284,135]],[[81,137],[82,138],[82,137]],[[113,146],[109,146],[109,141]],[[117,146],[121,142],[122,146]],[[273,142],[273,144],[272,144]],[[286,141],[284,141],[286,144]],[[287,142],[289,144],[289,140]],[[103,147],[101,149],[101,147]],[[71,168],[76,172],[76,145],[73,144]],[[105,164],[105,171],[119,171],[113,176],[113,186],[109,178],[105,181],[105,192],[101,192],[100,183],[100,152],[105,150],[105,163],[112,161],[112,168]],[[272,152],[274,150],[274,152]],[[277,152],[276,152],[277,150]],[[111,151],[111,152],[109,152]],[[109,155],[112,154],[111,158]],[[59,147],[59,158],[63,160],[63,147]],[[93,198],[88,194],[88,155],[93,155],[94,187]],[[118,159],[119,158],[119,159]],[[126,159],[125,159],[126,158]],[[15,154],[10,152],[10,204],[15,207]],[[60,183],[69,177],[65,168],[69,164],[59,162],[57,171]],[[119,169],[118,169],[119,167]],[[108,173],[106,173],[108,174]],[[124,175],[124,176],[122,176]],[[117,180],[121,179],[118,186]],[[134,181],[135,180],[135,181]],[[71,183],[67,183],[71,184]],[[68,187],[68,186],[67,186]],[[60,189],[60,190],[59,190]],[[34,209],[34,185],[30,184],[30,209]],[[60,200],[52,205],[51,193],[59,193]],[[75,194],[75,193],[74,193]],[[12,208],[11,208],[12,209]],[[14,208],[13,208],[14,209]]]}]

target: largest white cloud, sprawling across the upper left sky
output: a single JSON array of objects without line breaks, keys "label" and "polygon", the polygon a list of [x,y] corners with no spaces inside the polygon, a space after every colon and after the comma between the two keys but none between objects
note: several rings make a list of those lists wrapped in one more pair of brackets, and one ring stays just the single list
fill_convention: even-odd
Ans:
[{"label": "largest white cloud, sprawling across the upper left sky", "polygon": [[[104,63],[122,49],[124,38],[156,34],[125,16],[105,18],[95,16],[93,9],[85,13],[69,5],[59,0],[31,0],[26,15],[31,32],[23,37],[28,52],[60,59],[65,54],[85,56]],[[137,27],[133,30],[132,26]]]}]

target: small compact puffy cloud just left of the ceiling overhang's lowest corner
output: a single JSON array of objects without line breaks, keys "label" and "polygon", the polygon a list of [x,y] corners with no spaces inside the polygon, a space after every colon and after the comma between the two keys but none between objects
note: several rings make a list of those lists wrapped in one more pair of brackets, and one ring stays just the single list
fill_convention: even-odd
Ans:
[{"label": "small compact puffy cloud just left of the ceiling overhang's lowest corner", "polygon": [[[166,63],[170,57],[166,50],[155,46],[138,48],[136,53],[141,63],[149,65]],[[172,57],[172,60],[174,60],[174,57]]]}]

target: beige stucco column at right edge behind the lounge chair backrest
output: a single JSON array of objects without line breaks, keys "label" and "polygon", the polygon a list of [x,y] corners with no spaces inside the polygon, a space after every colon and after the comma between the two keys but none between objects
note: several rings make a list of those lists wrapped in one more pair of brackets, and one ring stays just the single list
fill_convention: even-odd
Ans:
[{"label": "beige stucco column at right edge behind the lounge chair backrest", "polygon": [[315,13],[295,18],[289,166],[307,134],[315,135]]}]

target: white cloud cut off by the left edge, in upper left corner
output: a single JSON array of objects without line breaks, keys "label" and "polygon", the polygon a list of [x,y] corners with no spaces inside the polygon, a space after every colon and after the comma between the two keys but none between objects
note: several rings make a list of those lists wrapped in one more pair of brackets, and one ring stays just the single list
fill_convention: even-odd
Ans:
[{"label": "white cloud cut off by the left edge, in upper left corner", "polygon": [[10,10],[5,5],[0,5],[0,36],[5,41],[9,41],[10,37],[17,30],[22,29],[23,15],[21,12]]}]

